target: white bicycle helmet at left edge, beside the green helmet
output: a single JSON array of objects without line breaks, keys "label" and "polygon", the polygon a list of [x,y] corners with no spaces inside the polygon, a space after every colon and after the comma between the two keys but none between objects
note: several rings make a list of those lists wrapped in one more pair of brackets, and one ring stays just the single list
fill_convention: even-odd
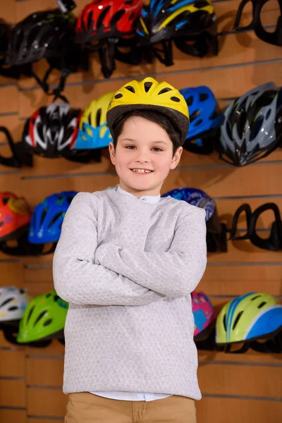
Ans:
[{"label": "white bicycle helmet at left edge, beside the green helmet", "polygon": [[4,321],[20,320],[31,298],[26,291],[16,286],[0,288],[0,324]]}]

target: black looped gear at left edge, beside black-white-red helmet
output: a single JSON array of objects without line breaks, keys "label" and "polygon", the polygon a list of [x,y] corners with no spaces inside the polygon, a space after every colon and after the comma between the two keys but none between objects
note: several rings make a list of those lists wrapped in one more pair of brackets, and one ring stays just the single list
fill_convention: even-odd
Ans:
[{"label": "black looped gear at left edge, beside black-white-red helmet", "polygon": [[23,165],[32,167],[32,154],[26,151],[23,142],[15,144],[11,133],[7,128],[5,128],[5,126],[0,126],[0,133],[4,133],[6,135],[8,146],[12,152],[11,157],[3,157],[0,154],[0,164],[15,168],[20,168]]}]

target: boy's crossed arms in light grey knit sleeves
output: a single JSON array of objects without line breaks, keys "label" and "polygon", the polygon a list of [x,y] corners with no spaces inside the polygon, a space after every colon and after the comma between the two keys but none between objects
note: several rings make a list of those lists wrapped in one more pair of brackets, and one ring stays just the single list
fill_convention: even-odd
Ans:
[{"label": "boy's crossed arms in light grey knit sleeves", "polygon": [[[146,305],[187,295],[197,286],[207,259],[204,211],[195,209],[202,216],[188,214],[190,218],[179,223],[168,252],[128,250],[110,243],[97,248],[95,201],[80,192],[64,218],[53,262],[54,286],[61,298],[80,305]],[[188,247],[190,237],[197,240],[194,249]]]}]

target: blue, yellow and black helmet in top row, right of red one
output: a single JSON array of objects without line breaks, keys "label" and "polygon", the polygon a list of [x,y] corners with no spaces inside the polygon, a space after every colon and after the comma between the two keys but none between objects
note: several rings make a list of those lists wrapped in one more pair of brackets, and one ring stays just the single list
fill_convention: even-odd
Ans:
[{"label": "blue, yellow and black helmet in top row, right of red one", "polygon": [[141,44],[161,42],[163,51],[155,48],[154,53],[161,63],[171,66],[172,40],[181,51],[204,56],[213,41],[214,36],[209,34],[209,29],[214,25],[211,0],[151,0],[142,8],[137,35]]}]

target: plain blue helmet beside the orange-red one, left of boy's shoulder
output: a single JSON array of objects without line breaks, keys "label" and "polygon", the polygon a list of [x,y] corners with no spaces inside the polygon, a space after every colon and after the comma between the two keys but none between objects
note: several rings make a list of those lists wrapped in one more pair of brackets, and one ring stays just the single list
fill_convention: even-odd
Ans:
[{"label": "plain blue helmet beside the orange-red one, left of boy's shoulder", "polygon": [[59,240],[63,217],[76,194],[75,191],[52,194],[35,207],[28,233],[30,243],[56,243]]}]

